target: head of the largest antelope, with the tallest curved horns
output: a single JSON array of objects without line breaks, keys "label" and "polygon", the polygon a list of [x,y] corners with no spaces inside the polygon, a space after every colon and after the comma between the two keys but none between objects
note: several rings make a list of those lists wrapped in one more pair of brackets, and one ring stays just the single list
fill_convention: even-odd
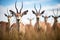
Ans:
[{"label": "head of the largest antelope, with the tallest curved horns", "polygon": [[22,11],[22,8],[23,8],[23,2],[22,2],[21,9],[20,9],[20,11],[18,12],[18,9],[17,9],[17,7],[16,7],[16,3],[17,3],[17,1],[15,2],[16,13],[15,13],[14,11],[12,11],[12,10],[9,10],[9,11],[11,12],[11,14],[15,15],[15,17],[16,17],[17,19],[21,19],[21,17],[22,17],[23,15],[26,15],[26,14],[27,14],[28,10],[25,10],[24,12],[21,12],[21,11]]}]

